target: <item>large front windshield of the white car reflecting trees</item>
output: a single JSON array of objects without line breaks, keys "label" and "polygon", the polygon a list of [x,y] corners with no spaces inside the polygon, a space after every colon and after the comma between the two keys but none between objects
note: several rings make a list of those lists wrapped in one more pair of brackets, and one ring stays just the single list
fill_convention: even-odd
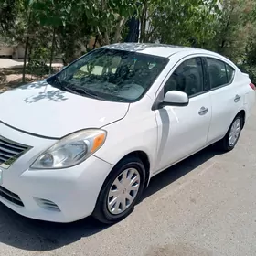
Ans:
[{"label": "large front windshield of the white car reflecting trees", "polygon": [[48,79],[61,90],[103,101],[133,102],[143,97],[168,59],[101,48]]}]

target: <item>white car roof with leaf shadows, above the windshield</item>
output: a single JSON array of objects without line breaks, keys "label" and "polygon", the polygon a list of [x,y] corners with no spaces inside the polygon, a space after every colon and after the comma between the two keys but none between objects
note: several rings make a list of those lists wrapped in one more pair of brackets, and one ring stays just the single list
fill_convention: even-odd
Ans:
[{"label": "white car roof with leaf shadows, above the windshield", "polygon": [[184,51],[184,52],[186,51],[187,54],[210,53],[210,54],[217,55],[216,53],[213,53],[205,49],[188,48],[188,47],[172,46],[172,45],[165,45],[165,44],[119,43],[119,44],[104,46],[102,48],[132,51],[132,52],[150,54],[150,55],[155,55],[155,56],[165,57],[165,58],[168,58],[171,55],[181,51]]}]

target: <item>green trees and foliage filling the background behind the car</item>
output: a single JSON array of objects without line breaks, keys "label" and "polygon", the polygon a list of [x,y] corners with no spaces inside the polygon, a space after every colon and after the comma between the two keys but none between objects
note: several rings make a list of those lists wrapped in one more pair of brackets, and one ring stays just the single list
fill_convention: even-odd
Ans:
[{"label": "green trees and foliage filling the background behind the car", "polygon": [[25,46],[29,69],[48,71],[56,57],[67,65],[123,41],[135,16],[141,42],[208,48],[255,66],[255,15],[255,0],[0,0],[0,33]]}]

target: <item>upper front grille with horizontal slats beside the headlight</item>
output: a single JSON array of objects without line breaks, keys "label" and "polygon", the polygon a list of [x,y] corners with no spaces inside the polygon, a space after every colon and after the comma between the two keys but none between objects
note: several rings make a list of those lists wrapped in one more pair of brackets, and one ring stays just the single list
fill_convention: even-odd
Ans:
[{"label": "upper front grille with horizontal slats beside the headlight", "polygon": [[0,166],[7,168],[12,165],[28,149],[27,145],[17,144],[0,136]]}]

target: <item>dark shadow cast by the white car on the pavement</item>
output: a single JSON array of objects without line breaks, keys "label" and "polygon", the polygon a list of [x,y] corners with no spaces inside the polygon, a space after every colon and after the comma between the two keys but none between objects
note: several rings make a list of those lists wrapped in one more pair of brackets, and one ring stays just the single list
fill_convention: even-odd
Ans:
[{"label": "dark shadow cast by the white car on the pavement", "polygon": [[[166,169],[152,179],[149,187],[144,191],[143,199],[185,176],[215,155],[219,155],[219,152],[209,147]],[[108,226],[98,223],[91,217],[69,224],[27,219],[0,203],[0,243],[22,250],[51,251],[107,228]]]}]

